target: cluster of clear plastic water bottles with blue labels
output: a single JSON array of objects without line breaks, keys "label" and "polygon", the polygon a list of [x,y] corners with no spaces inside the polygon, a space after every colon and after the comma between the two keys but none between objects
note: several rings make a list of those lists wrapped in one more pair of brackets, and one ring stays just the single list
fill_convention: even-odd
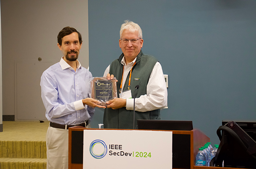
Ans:
[{"label": "cluster of clear plastic water bottles with blue labels", "polygon": [[196,166],[209,166],[218,147],[219,145],[214,144],[214,148],[212,148],[211,143],[207,142],[203,147],[199,148],[198,154],[196,155]]}]

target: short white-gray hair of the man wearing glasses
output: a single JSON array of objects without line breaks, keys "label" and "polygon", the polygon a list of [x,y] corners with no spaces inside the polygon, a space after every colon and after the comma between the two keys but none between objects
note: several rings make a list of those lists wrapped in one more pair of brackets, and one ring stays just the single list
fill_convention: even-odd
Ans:
[{"label": "short white-gray hair of the man wearing glasses", "polygon": [[125,20],[125,23],[121,25],[120,29],[120,38],[122,38],[122,34],[124,30],[128,30],[131,33],[138,32],[138,37],[142,39],[142,30],[141,27],[132,21]]}]

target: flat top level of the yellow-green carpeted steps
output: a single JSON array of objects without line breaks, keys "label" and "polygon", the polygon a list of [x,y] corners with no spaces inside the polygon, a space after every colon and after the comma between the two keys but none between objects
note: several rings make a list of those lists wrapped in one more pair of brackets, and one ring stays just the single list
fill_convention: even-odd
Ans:
[{"label": "flat top level of the yellow-green carpeted steps", "polygon": [[45,141],[49,121],[3,121],[0,141]]}]

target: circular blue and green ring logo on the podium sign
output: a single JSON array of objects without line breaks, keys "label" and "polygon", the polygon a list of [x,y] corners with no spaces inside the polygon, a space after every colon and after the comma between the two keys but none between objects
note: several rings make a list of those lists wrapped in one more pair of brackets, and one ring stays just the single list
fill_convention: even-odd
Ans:
[{"label": "circular blue and green ring logo on the podium sign", "polygon": [[102,140],[94,140],[90,145],[90,154],[95,159],[101,159],[107,154],[107,145]]}]

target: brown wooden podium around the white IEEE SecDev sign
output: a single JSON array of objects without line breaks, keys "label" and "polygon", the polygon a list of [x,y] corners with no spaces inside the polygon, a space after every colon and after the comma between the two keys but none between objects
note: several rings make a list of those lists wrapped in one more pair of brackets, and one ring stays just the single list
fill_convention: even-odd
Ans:
[{"label": "brown wooden podium around the white IEEE SecDev sign", "polygon": [[[87,129],[81,126],[69,128],[68,168],[83,169],[84,130],[117,130]],[[118,129],[131,130],[131,129]],[[152,130],[146,130],[152,131]],[[161,141],[161,139],[159,139]],[[172,131],[172,168],[193,169],[198,149],[210,142],[209,137],[198,129],[191,131]],[[171,168],[171,166],[170,166]]]}]

